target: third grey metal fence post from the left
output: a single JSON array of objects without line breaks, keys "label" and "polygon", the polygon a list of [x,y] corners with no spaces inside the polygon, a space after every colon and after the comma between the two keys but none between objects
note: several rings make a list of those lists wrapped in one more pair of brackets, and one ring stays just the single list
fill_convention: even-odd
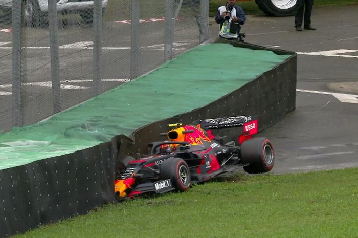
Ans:
[{"label": "third grey metal fence post from the left", "polygon": [[93,6],[93,94],[102,93],[102,0]]}]

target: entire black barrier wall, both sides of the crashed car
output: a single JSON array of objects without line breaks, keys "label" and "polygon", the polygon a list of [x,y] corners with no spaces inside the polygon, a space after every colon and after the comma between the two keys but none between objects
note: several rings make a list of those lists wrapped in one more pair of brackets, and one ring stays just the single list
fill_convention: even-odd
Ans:
[{"label": "entire black barrier wall, both sides of the crashed car", "polygon": [[[165,139],[159,133],[167,132],[169,123],[190,124],[197,119],[252,115],[258,119],[262,131],[295,109],[297,55],[294,52],[225,39],[218,42],[292,56],[217,101],[139,128],[131,138],[119,135],[111,142],[72,154],[0,170],[0,237],[115,202],[116,166],[127,163],[130,159],[127,155],[137,158],[137,153],[147,154],[148,143]],[[236,140],[241,133],[242,128],[220,129],[220,135],[227,136],[227,140]]]}]

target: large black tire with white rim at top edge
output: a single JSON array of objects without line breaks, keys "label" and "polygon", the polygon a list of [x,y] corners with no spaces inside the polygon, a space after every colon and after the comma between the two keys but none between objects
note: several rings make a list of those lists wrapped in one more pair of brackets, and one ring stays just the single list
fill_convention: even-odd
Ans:
[{"label": "large black tire with white rim at top edge", "polygon": [[292,16],[297,0],[255,0],[261,11],[270,16]]}]

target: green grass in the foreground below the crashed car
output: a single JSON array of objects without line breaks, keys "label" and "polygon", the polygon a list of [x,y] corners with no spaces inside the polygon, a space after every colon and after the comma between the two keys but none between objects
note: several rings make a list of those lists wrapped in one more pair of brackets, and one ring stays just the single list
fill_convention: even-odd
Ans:
[{"label": "green grass in the foreground below the crashed car", "polygon": [[239,174],[107,205],[19,237],[358,237],[358,168]]}]

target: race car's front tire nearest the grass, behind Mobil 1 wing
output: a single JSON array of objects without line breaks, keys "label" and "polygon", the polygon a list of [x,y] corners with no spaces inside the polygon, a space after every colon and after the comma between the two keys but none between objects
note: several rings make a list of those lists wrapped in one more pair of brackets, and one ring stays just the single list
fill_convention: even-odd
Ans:
[{"label": "race car's front tire nearest the grass, behind Mobil 1 wing", "polygon": [[190,170],[181,158],[164,160],[160,167],[160,178],[171,179],[173,187],[178,191],[186,191],[190,186]]}]

